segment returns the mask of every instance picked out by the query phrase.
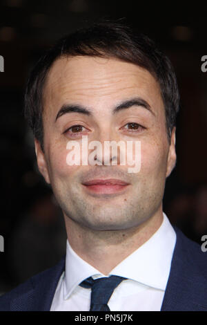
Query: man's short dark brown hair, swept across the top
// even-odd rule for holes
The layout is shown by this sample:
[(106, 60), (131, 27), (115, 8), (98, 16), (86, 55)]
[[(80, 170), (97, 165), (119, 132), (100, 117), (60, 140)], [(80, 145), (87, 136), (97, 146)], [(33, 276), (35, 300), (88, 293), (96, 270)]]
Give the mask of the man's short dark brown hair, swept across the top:
[(34, 66), (25, 95), (25, 116), (43, 149), (43, 89), (55, 60), (62, 56), (114, 57), (149, 71), (159, 82), (168, 141), (179, 111), (179, 91), (172, 64), (146, 35), (113, 21), (92, 24), (60, 39)]

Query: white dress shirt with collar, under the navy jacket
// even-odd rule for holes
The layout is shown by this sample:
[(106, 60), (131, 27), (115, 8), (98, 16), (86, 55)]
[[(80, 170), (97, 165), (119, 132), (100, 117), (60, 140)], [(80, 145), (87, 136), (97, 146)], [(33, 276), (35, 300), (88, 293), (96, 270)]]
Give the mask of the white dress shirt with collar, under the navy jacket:
[[(121, 261), (108, 275), (128, 278), (122, 281), (112, 293), (108, 301), (111, 311), (161, 309), (175, 242), (175, 230), (164, 214), (164, 220), (157, 232)], [(66, 270), (59, 279), (50, 310), (90, 310), (91, 289), (83, 288), (79, 284), (91, 276), (93, 279), (106, 277), (83, 261), (72, 250), (67, 240)]]

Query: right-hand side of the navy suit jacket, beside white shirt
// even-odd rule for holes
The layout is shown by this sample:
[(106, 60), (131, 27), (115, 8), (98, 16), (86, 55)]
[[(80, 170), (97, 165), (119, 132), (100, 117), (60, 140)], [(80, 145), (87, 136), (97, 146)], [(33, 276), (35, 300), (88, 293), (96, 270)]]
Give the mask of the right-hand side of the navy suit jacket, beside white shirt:
[(161, 311), (207, 310), (206, 259), (199, 245), (177, 228), (177, 242)]

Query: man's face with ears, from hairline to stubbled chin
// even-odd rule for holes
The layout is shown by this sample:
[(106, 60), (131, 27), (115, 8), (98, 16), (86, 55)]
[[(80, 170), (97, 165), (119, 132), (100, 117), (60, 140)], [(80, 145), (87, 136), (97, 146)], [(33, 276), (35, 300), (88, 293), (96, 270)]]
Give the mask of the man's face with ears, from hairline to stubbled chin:
[[(142, 104), (126, 104), (137, 98)], [(59, 113), (66, 105), (90, 113)], [(176, 160), (175, 129), (169, 145), (159, 84), (148, 71), (117, 59), (62, 57), (48, 74), (43, 107), (44, 153), (36, 140), (37, 162), (65, 218), (90, 230), (126, 230), (162, 211), (165, 180)], [(130, 174), (119, 163), (69, 166), (68, 141), (76, 140), (81, 149), (82, 136), (88, 143), (140, 141), (140, 171)], [(84, 185), (109, 178), (128, 185)]]

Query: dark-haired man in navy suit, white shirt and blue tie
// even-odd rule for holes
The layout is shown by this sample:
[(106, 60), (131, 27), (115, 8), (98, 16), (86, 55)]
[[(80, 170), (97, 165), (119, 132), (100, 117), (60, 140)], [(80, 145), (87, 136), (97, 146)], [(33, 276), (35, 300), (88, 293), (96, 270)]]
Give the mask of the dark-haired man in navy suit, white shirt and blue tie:
[[(125, 26), (79, 30), (41, 58), (26, 118), (63, 211), (66, 259), (1, 297), (1, 310), (207, 310), (206, 255), (162, 209), (178, 109), (168, 58)], [(124, 147), (103, 152), (107, 141), (137, 145), (139, 168), (123, 163)], [(88, 163), (94, 143), (102, 149)]]

